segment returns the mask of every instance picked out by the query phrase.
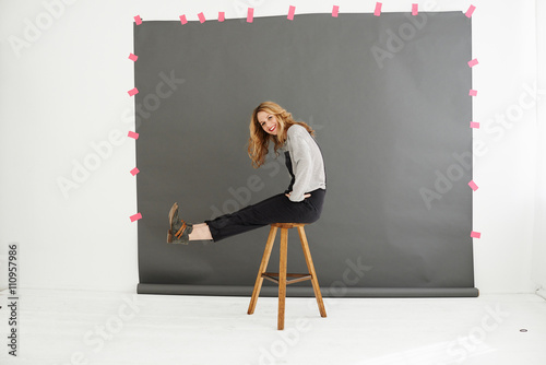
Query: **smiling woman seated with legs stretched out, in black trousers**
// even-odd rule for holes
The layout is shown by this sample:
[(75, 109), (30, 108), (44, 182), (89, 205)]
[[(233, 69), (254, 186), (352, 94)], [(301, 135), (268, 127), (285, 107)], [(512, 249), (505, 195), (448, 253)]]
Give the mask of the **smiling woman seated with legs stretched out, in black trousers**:
[(235, 213), (200, 224), (188, 224), (178, 216), (174, 203), (168, 214), (167, 243), (214, 240), (256, 229), (271, 223), (312, 223), (320, 217), (327, 192), (324, 162), (314, 131), (305, 122), (295, 121), (278, 104), (264, 102), (252, 113), (248, 154), (254, 168), (265, 163), (270, 142), (275, 153), (283, 151), (292, 181), (278, 193)]

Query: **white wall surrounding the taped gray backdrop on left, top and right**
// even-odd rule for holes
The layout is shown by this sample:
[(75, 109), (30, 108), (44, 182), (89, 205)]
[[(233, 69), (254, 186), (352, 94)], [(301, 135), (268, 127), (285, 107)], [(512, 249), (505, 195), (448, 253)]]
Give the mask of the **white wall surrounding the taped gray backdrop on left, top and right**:
[[(115, 138), (132, 128), (127, 91), (133, 87), (128, 56), (134, 15), (177, 20), (185, 13), (198, 20), (202, 11), (212, 20), (225, 11), (228, 19), (246, 17), (246, 8), (253, 7), (260, 17), (286, 14), (292, 4), (297, 21), (298, 13), (330, 13), (334, 3), (341, 13), (375, 9), (369, 0), (64, 1), (0, 3), (1, 270), (8, 243), (19, 243), (25, 287), (134, 291), (139, 281), (138, 223), (129, 221), (136, 212), (135, 181), (129, 174), (135, 165), (134, 142)], [(412, 2), (383, 2), (383, 12), (410, 11)], [(474, 138), (485, 146), (474, 156), (479, 186), (474, 228), (483, 234), (475, 240), (476, 286), (482, 292), (532, 292), (545, 281), (539, 270), (532, 280), (531, 264), (546, 261), (544, 255), (532, 259), (532, 250), (544, 250), (545, 240), (544, 229), (534, 224), (535, 214), (544, 216), (536, 168), (544, 169), (545, 161), (537, 160), (536, 137), (545, 134), (526, 91), (536, 81), (534, 1), (418, 2), (422, 10), (466, 11), (471, 2), (477, 8), (474, 120), (483, 128)], [(33, 33), (28, 24), (43, 30)], [(27, 42), (19, 56), (10, 44), (13, 36)], [(544, 117), (544, 108), (542, 113)], [(500, 123), (497, 116), (507, 114)], [(98, 155), (93, 145), (102, 149), (98, 160), (93, 160)], [(58, 178), (72, 179), (75, 166), (85, 162), (97, 168), (76, 176), (78, 187), (64, 197)], [(4, 271), (0, 278), (5, 286)]]

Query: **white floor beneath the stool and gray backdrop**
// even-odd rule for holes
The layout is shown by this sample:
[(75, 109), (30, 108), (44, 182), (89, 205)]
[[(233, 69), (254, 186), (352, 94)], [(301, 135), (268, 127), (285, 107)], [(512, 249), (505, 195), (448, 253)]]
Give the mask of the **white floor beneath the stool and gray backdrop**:
[[(0, 364), (546, 364), (546, 301), (276, 298), (19, 293), (17, 357), (8, 355), (8, 293), (0, 293)], [(521, 331), (526, 330), (526, 331)]]

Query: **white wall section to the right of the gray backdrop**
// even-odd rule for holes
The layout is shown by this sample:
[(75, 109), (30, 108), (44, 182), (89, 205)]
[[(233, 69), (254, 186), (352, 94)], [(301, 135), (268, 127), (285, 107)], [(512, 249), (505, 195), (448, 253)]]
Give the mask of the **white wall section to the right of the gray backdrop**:
[[(536, 184), (536, 43), (534, 1), (476, 2), (473, 54), (474, 226), (476, 286), (527, 292)], [(484, 151), (478, 152), (478, 151)]]

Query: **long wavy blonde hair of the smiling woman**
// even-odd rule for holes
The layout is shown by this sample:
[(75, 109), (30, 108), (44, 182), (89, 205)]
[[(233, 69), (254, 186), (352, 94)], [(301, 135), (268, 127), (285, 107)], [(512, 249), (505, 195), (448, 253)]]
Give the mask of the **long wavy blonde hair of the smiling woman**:
[[(276, 117), (278, 122), (276, 136), (268, 133), (263, 130), (262, 126), (260, 126), (260, 121), (258, 120), (258, 113), (260, 111), (265, 111)], [(314, 130), (312, 130), (311, 127), (309, 127), (306, 122), (294, 120), (292, 114), (286, 111), (276, 103), (263, 102), (252, 111), (249, 126), (250, 138), (248, 139), (248, 155), (250, 160), (252, 160), (252, 166), (254, 168), (258, 168), (265, 163), (270, 141), (275, 143), (275, 154), (278, 156), (277, 150), (286, 142), (286, 132), (293, 125), (304, 127), (307, 129), (309, 134), (314, 137)]]

